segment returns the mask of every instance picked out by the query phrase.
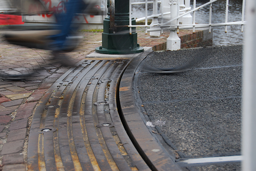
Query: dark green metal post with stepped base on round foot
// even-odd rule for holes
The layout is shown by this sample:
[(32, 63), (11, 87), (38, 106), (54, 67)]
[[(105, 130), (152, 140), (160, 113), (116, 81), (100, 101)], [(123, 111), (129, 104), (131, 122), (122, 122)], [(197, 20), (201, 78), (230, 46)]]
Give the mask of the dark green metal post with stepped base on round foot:
[[(132, 25), (136, 21), (132, 18)], [(103, 21), (102, 46), (95, 49), (102, 54), (135, 54), (144, 49), (137, 44), (136, 28), (130, 34), (129, 0), (108, 0), (108, 17)]]

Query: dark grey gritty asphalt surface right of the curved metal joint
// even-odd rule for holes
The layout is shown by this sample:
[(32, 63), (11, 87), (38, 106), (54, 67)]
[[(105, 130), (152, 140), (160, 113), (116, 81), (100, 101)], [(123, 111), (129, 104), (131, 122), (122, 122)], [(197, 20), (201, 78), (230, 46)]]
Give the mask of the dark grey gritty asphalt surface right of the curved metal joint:
[[(144, 65), (171, 68), (196, 61), (192, 70), (172, 74), (136, 72), (140, 103), (179, 159), (240, 155), (242, 45), (152, 52)], [(138, 105), (140, 106), (140, 105)], [(218, 170), (218, 165), (189, 170)], [(219, 170), (240, 170), (240, 163)]]

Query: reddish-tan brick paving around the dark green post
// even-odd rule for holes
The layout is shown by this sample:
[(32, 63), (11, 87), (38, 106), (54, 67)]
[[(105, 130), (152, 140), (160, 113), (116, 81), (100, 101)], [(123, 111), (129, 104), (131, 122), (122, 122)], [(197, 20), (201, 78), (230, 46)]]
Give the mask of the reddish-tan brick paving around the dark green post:
[[(68, 56), (79, 62), (86, 55), (101, 46), (101, 33), (81, 32), (83, 40)], [(186, 32), (180, 36), (188, 35)], [(144, 31), (138, 32), (141, 46), (163, 50), (166, 46), (166, 32), (161, 38), (149, 38)], [(165, 44), (165, 45), (164, 45)], [(25, 68), (43, 66), (32, 77), (24, 81), (0, 80), (0, 171), (26, 170), (27, 143), (33, 111), (48, 88), (69, 68), (52, 64), (51, 52), (8, 44), (0, 39), (0, 69), (10, 74), (22, 72)]]

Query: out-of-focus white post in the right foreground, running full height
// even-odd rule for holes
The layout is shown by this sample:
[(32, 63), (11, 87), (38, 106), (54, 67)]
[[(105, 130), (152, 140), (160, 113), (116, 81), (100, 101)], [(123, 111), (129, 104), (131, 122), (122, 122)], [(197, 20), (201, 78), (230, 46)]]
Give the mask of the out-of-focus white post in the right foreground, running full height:
[(242, 170), (256, 169), (256, 1), (246, 0), (242, 88)]

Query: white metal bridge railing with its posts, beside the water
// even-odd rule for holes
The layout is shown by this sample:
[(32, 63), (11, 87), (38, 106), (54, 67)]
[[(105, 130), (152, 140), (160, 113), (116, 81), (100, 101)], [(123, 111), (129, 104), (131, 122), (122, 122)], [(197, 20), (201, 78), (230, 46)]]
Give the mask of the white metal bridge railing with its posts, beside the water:
[[(170, 30), (170, 36), (167, 39), (167, 50), (180, 49), (180, 39), (177, 36), (177, 32), (180, 29), (192, 29), (193, 32), (195, 32), (196, 28), (209, 28), (209, 32), (211, 32), (212, 27), (225, 26), (224, 31), (227, 32), (227, 26), (241, 25), (241, 32), (243, 32), (244, 24), (246, 24), (246, 21), (244, 20), (245, 0), (242, 0), (242, 16), (240, 21), (228, 22), (229, 2), (226, 0), (225, 22), (212, 23), (212, 3), (216, 1), (218, 0), (209, 0), (209, 2), (196, 7), (196, 0), (193, 0), (193, 6), (191, 8), (190, 0), (145, 0), (144, 2), (132, 2), (132, 0), (130, 0), (130, 10), (132, 9), (132, 5), (145, 4), (145, 17), (136, 19), (136, 22), (145, 20), (145, 24), (132, 25), (130, 22), (129, 27), (145, 27), (146, 34), (147, 32), (150, 32), (150, 36), (154, 37), (160, 37), (160, 34), (163, 33), (163, 29)], [(149, 3), (153, 3), (153, 14), (150, 16), (147, 15)], [(157, 3), (160, 3), (159, 13)], [(209, 8), (209, 22), (206, 24), (197, 24), (196, 11), (207, 7)], [(148, 25), (149, 18), (152, 18), (152, 23), (150, 25)], [(132, 12), (130, 11), (130, 21), (131, 20)], [(161, 22), (158, 23), (158, 21)]]

